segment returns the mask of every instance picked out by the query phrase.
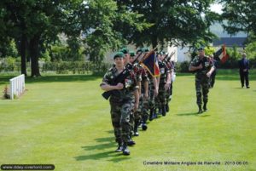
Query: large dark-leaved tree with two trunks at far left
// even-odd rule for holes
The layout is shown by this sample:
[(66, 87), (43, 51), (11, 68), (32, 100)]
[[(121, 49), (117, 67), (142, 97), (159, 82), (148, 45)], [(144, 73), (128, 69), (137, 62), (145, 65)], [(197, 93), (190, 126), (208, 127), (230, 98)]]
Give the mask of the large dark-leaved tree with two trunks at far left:
[(26, 51), (28, 51), (32, 77), (40, 76), (38, 68), (40, 50), (43, 46), (47, 46), (47, 43), (55, 41), (58, 33), (65, 30), (66, 19), (72, 17), (68, 14), (73, 14), (75, 10), (73, 7), (77, 7), (77, 4), (82, 2), (82, 0), (1, 1), (0, 23), (4, 28), (1, 37), (15, 38), (20, 45), (21, 73), (26, 74)]

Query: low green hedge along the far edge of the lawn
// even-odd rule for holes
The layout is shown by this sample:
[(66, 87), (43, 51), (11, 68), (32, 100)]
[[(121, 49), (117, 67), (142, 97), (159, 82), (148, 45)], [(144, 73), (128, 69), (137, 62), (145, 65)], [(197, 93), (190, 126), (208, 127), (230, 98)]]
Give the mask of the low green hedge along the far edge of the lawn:
[[(30, 66), (26, 63), (26, 66)], [(108, 71), (112, 64), (98, 63), (95, 64), (90, 61), (56, 61), (44, 62), (39, 61), (39, 69), (42, 72), (54, 72), (56, 74), (89, 74), (89, 73), (104, 73)], [(236, 69), (238, 68), (238, 60), (228, 60), (224, 64), (218, 62), (218, 68), (221, 69)], [(256, 60), (250, 60), (250, 68), (256, 68)], [(20, 62), (13, 58), (7, 58), (0, 61), (0, 72), (20, 71)], [(29, 68), (28, 70), (29, 71)], [(177, 62), (175, 64), (175, 71), (189, 72), (189, 61)]]

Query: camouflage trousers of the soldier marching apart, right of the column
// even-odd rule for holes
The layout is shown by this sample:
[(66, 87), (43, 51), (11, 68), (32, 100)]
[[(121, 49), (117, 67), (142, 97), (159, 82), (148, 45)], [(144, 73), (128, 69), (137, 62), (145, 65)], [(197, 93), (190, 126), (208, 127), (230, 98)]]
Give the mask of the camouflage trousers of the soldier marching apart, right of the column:
[(195, 78), (195, 91), (196, 91), (196, 104), (202, 105), (202, 99), (204, 104), (208, 102), (209, 93), (209, 81), (208, 77), (202, 77), (201, 79)]

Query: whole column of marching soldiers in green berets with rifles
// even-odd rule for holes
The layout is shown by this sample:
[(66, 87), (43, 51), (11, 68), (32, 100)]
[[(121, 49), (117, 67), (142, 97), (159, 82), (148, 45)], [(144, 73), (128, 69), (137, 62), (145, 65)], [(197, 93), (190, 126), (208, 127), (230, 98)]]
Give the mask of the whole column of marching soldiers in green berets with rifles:
[[(174, 64), (165, 52), (153, 53), (154, 62), (146, 63), (145, 59), (152, 52), (154, 50), (139, 48), (135, 54), (128, 48), (121, 49), (114, 54), (114, 64), (100, 85), (105, 93), (111, 92), (109, 102), (118, 143), (116, 151), (124, 155), (130, 155), (127, 146), (136, 144), (132, 136), (139, 135), (140, 127), (147, 130), (148, 120), (166, 116), (170, 111)], [(125, 76), (124, 79), (117, 79), (120, 75)]]

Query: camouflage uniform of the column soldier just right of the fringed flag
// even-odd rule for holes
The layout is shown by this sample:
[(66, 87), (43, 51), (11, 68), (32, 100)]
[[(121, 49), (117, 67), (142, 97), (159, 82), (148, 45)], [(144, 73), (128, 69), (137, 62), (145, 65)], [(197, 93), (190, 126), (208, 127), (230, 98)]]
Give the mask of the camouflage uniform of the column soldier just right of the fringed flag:
[(162, 61), (159, 61), (160, 67), (160, 83), (159, 83), (159, 94), (156, 97), (156, 106), (159, 108), (160, 113), (166, 115), (166, 76), (170, 73), (170, 70), (167, 68), (166, 64)]

